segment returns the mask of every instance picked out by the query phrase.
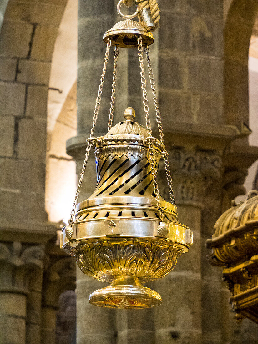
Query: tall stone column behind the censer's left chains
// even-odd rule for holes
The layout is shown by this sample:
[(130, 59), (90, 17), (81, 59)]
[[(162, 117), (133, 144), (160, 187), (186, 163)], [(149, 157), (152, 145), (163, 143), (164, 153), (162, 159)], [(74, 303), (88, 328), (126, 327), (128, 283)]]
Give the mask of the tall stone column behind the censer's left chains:
[[(114, 25), (114, 1), (96, 0), (78, 2), (78, 79), (77, 132), (68, 142), (68, 153), (77, 163), (80, 175), (85, 156), (85, 139), (89, 136), (100, 76), (106, 51), (102, 37)], [(96, 136), (106, 133), (112, 84), (113, 48), (104, 82), (103, 95), (96, 127)], [(126, 69), (126, 68), (125, 68)], [(96, 166), (92, 153), (85, 174), (80, 200), (88, 198), (95, 189)], [(115, 312), (90, 305), (89, 294), (104, 287), (77, 268), (77, 343), (110, 344), (115, 341)]]

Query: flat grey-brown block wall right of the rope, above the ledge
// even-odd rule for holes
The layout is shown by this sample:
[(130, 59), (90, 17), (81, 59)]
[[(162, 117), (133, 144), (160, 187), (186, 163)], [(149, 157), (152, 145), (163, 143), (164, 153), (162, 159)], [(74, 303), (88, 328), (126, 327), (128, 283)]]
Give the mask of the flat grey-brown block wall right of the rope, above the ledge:
[(159, 99), (164, 119), (224, 123), (222, 8), (221, 0), (160, 1)]

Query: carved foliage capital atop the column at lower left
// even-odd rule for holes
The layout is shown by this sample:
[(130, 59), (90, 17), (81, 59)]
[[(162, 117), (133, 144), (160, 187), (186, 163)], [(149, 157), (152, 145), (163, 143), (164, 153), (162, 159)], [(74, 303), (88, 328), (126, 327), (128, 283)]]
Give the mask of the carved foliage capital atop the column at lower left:
[(43, 270), (44, 246), (0, 243), (0, 290), (27, 293), (35, 270)]

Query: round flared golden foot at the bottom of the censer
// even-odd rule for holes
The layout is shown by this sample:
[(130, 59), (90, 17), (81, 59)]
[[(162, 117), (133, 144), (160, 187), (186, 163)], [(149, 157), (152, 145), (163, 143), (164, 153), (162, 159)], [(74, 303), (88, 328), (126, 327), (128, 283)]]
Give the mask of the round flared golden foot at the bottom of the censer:
[(108, 287), (95, 290), (89, 302), (99, 307), (140, 309), (162, 303), (160, 295), (143, 287), (136, 277), (117, 277)]

